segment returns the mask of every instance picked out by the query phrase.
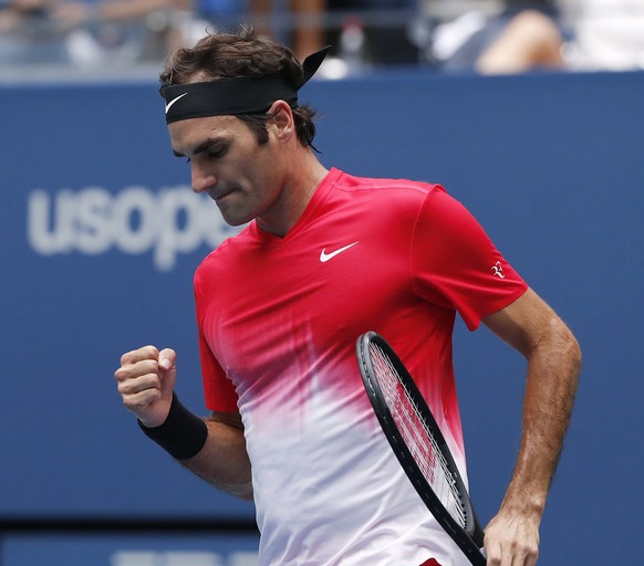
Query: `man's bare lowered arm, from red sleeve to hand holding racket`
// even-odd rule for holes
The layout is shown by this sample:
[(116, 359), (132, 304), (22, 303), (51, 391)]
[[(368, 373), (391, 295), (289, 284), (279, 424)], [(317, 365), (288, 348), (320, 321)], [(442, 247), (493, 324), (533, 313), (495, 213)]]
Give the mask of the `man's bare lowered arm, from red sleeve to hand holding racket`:
[(570, 422), (581, 350), (532, 290), (484, 323), (528, 360), (519, 454), (499, 512), (486, 528), (487, 564), (533, 566), (546, 497)]

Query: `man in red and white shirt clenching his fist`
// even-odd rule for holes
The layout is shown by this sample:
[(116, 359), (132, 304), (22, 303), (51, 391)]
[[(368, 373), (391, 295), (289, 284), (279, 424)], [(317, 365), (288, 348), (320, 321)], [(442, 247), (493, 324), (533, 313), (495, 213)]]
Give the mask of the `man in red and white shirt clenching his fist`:
[(356, 337), (398, 352), (465, 476), (451, 364), (458, 312), (528, 359), (517, 468), (486, 531), (488, 564), (533, 565), (577, 387), (570, 331), (436, 185), (326, 170), (299, 88), (324, 52), (242, 30), (181, 50), (162, 74), (174, 151), (225, 220), (250, 224), (195, 275), (205, 396), (173, 394), (176, 353), (116, 370), (142, 429), (199, 476), (252, 497), (261, 565), (466, 565), (401, 470), (364, 394)]

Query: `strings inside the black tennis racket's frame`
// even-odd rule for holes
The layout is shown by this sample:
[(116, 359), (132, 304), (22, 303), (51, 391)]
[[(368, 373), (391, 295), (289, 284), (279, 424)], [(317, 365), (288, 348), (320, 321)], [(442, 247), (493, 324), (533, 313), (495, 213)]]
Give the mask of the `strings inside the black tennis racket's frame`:
[(465, 509), (456, 480), (449, 471), (447, 461), (432, 430), (422, 417), (409, 391), (399, 379), (398, 371), (389, 357), (374, 344), (370, 345), (370, 350), (375, 377), (412, 457), (445, 509), (465, 527)]

